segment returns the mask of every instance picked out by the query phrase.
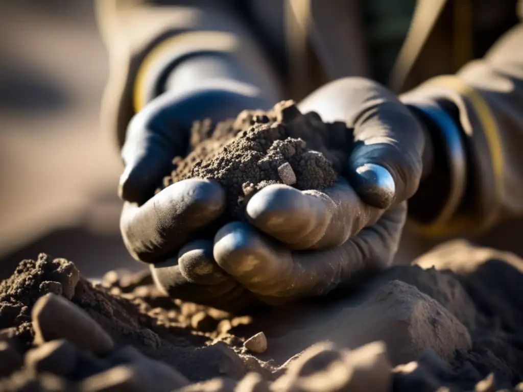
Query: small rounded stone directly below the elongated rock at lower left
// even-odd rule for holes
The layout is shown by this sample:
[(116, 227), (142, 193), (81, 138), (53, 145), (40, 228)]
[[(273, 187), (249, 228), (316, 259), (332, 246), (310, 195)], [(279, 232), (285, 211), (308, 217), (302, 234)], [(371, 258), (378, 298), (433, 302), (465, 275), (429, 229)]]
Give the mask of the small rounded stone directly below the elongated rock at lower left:
[(71, 374), (76, 367), (76, 348), (67, 340), (53, 340), (26, 353), (25, 364), (37, 373), (60, 376)]

